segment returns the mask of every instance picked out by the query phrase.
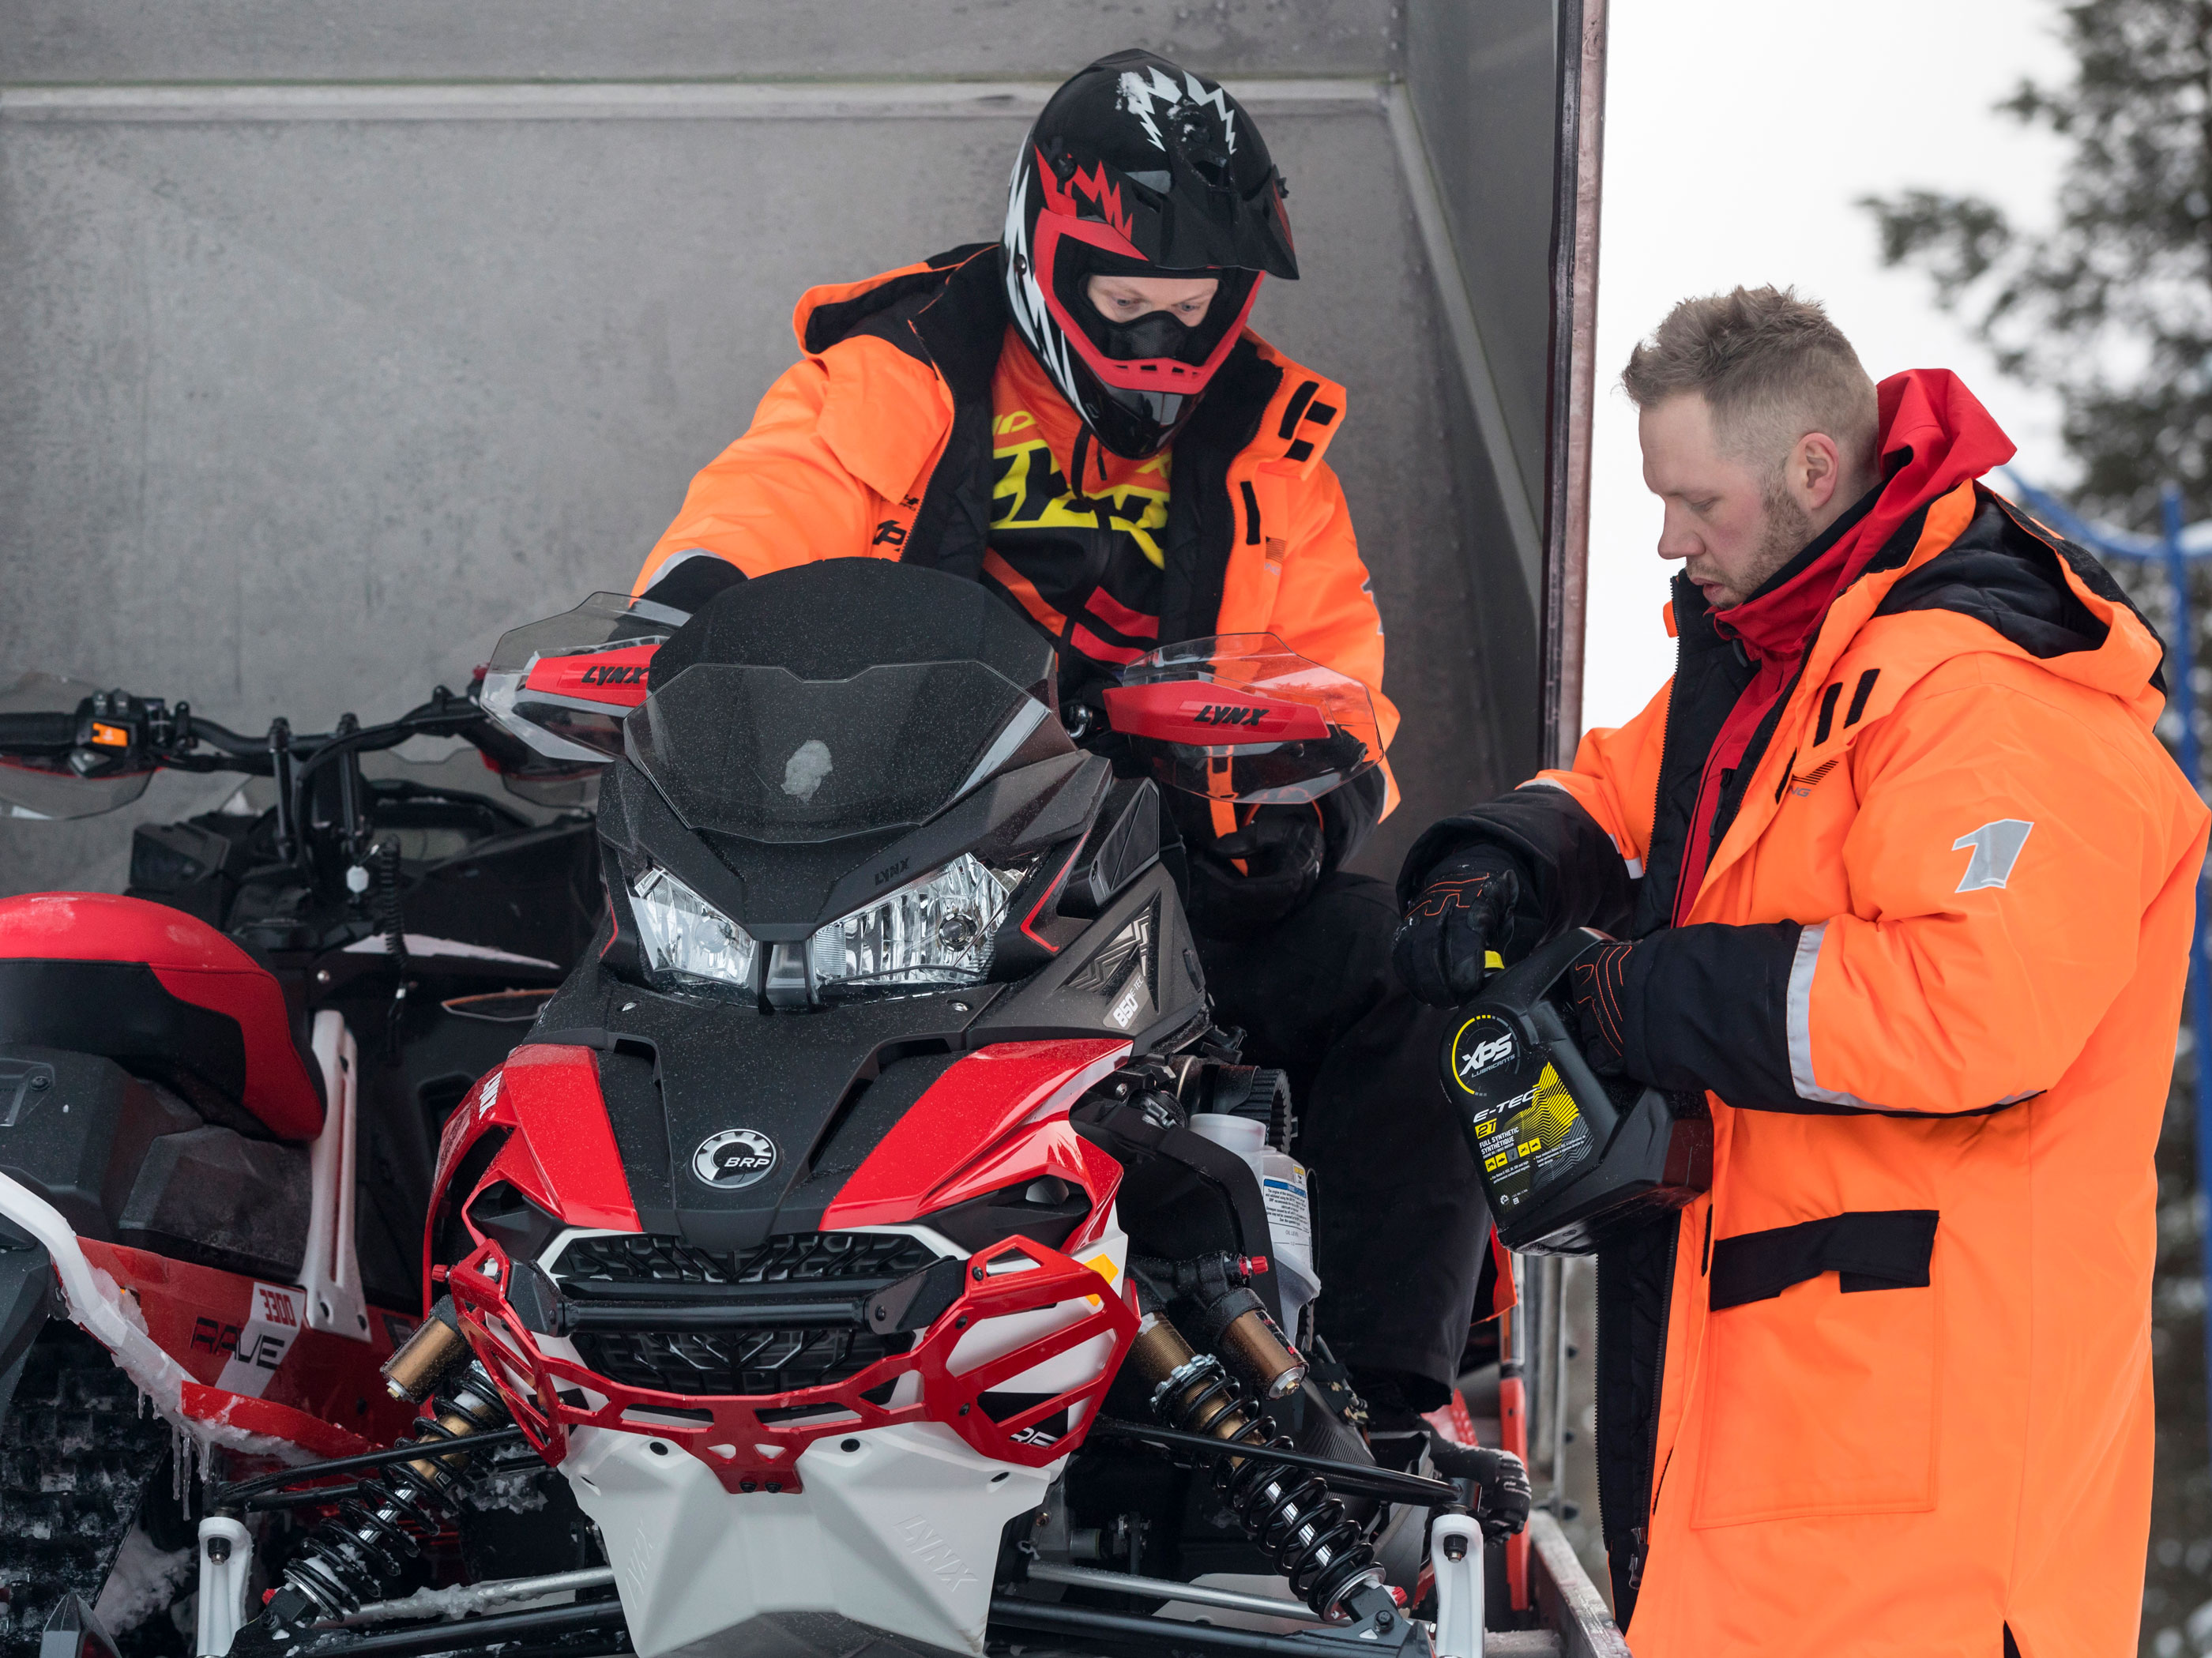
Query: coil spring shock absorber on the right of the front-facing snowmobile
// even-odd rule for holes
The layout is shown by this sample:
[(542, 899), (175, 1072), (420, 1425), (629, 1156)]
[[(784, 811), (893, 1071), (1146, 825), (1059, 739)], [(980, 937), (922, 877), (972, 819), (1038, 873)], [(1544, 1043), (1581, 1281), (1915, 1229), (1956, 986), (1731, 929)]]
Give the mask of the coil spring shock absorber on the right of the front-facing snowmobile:
[(1250, 1448), (1250, 1455), (1223, 1457), (1214, 1481), (1245, 1536), (1316, 1616), (1334, 1618), (1360, 1589), (1383, 1583), (1374, 1550), (1345, 1519), (1327, 1481), (1267, 1457), (1292, 1441), (1270, 1437), (1272, 1424), (1245, 1406), (1243, 1388), (1221, 1360), (1192, 1351), (1168, 1320), (1148, 1313), (1130, 1362), (1152, 1384), (1152, 1415), (1166, 1426)]

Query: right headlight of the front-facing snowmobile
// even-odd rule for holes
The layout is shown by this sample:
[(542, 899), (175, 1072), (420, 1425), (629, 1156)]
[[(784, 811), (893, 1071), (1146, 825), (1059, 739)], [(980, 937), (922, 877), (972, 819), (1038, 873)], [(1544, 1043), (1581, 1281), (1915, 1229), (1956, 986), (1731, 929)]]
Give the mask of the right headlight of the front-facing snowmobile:
[(830, 997), (933, 990), (991, 973), (991, 948), (1031, 864), (993, 869), (973, 853), (856, 909), (807, 940), (814, 984)]

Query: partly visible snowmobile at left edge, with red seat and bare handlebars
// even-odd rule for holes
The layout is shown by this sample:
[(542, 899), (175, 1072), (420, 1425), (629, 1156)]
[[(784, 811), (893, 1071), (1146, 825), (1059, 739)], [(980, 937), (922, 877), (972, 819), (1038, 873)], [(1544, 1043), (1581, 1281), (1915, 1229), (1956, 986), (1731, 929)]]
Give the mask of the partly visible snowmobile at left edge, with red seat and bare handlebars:
[(595, 776), (469, 694), (239, 734), (0, 674), (0, 811), (113, 811), (155, 772), (215, 809), (139, 827), (124, 895), (0, 900), (11, 1656), (55, 1618), (192, 1651), (208, 1479), (407, 1430), (378, 1368), (420, 1322), (438, 1132), (604, 906)]

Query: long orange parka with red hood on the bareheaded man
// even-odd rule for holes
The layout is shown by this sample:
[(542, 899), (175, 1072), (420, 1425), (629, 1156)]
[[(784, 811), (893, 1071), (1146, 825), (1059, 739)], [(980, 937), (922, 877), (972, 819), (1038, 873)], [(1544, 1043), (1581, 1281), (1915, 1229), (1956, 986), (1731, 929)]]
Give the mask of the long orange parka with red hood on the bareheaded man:
[(1489, 842), (1548, 924), (1641, 935), (1630, 1070), (1710, 1090), (1710, 1194), (1599, 1260), (1637, 1658), (2135, 1651), (2152, 1147), (2208, 814), (2112, 579), (1929, 473), (1980, 405), (1900, 376), (1882, 413), (1891, 489), (1922, 493), (1885, 497), (1898, 528), (1732, 774), (1681, 926), (1699, 767), (1747, 679), (1683, 581), (1650, 707), (1409, 862)]

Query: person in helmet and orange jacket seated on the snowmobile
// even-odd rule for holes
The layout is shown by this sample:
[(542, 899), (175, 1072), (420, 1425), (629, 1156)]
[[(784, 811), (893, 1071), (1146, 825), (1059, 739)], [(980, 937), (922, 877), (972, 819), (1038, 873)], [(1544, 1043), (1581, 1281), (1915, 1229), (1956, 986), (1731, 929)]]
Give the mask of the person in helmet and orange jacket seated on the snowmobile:
[[(1148, 650), (1276, 634), (1363, 681), (1387, 743), (1383, 623), (1323, 460), (1343, 387), (1245, 327), (1261, 279), (1298, 274), (1283, 199), (1221, 86), (1144, 51), (1099, 60), (1022, 144), (1000, 243), (801, 298), (803, 358), (692, 480), (635, 590), (695, 608), (821, 557), (929, 564), (1053, 639), (1077, 738)], [(1248, 1061), (1290, 1070), (1329, 1165), (1332, 1335), (1369, 1391), (1429, 1408), (1486, 1216), (1429, 1043), (1398, 1039), (1389, 889), (1340, 873), (1394, 794), (1376, 767), (1318, 807), (1172, 816), (1221, 1019), (1252, 1032)]]

